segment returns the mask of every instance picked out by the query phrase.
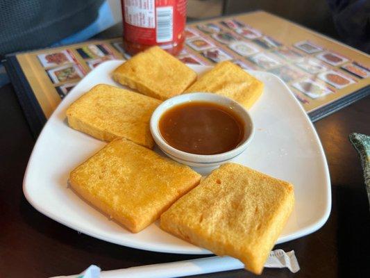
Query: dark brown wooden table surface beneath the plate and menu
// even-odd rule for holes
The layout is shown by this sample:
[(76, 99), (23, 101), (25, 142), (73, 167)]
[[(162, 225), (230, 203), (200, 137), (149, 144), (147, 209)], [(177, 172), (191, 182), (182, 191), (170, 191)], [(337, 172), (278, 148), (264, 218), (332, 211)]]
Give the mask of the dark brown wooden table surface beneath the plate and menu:
[[(106, 243), (37, 212), (22, 193), (22, 179), (35, 140), (11, 84), (0, 88), (0, 97), (1, 278), (72, 275), (91, 264), (114, 270), (201, 257), (146, 252)], [(300, 272), (267, 268), (261, 277), (369, 277), (369, 204), (360, 160), (348, 134), (370, 134), (370, 97), (314, 125), (330, 168), (330, 218), (314, 234), (276, 246), (296, 252)], [(254, 276), (235, 270), (198, 277)]]

